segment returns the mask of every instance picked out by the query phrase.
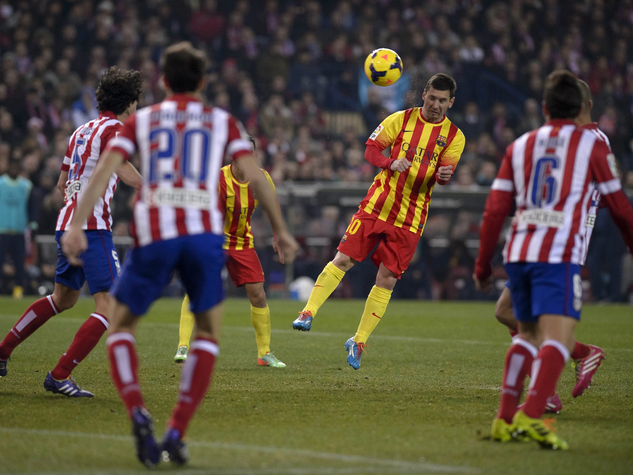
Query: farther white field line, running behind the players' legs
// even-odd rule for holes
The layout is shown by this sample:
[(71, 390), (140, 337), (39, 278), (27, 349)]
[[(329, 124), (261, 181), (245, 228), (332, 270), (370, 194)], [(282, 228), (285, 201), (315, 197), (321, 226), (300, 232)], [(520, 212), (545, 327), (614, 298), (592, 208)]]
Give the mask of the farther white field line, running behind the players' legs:
[[(22, 315), (9, 315), (9, 314), (0, 314), (0, 317), (4, 318), (13, 318), (17, 320)], [(53, 317), (51, 321), (56, 322), (77, 322), (80, 324), (82, 322), (81, 319), (73, 319), (70, 317)], [(177, 323), (168, 323), (168, 322), (141, 322), (141, 325), (158, 325), (158, 326), (168, 326), (177, 328), (179, 324)], [(222, 326), (222, 330), (237, 330), (237, 331), (253, 331), (253, 327), (238, 327), (238, 326)], [(273, 328), (270, 330), (270, 333), (277, 334), (305, 334), (306, 332), (299, 332), (297, 330), (285, 330), (280, 328)], [(332, 333), (332, 332), (324, 332), (324, 331), (310, 331), (307, 333), (308, 335), (313, 336), (329, 336), (335, 338), (349, 338), (349, 333)], [(310, 337), (308, 337), (310, 338)], [(473, 340), (473, 339), (451, 339), (451, 338), (421, 338), (418, 336), (397, 336), (397, 335), (374, 335), (372, 339), (385, 339), (392, 341), (411, 341), (418, 343), (456, 343), (459, 345), (499, 345), (499, 346), (510, 346), (510, 340), (508, 341), (483, 341), (483, 340)], [(603, 350), (607, 350), (610, 352), (633, 352), (633, 348), (603, 348)]]

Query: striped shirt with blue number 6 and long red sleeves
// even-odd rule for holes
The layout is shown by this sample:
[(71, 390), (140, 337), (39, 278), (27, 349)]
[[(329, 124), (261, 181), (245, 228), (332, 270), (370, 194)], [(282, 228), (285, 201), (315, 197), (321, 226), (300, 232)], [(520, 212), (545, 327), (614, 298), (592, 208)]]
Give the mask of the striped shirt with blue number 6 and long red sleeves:
[(571, 120), (550, 120), (519, 137), (506, 150), (486, 201), (477, 277), (490, 275), (513, 197), (517, 212), (506, 236), (504, 262), (582, 265), (591, 236), (587, 228), (594, 225), (598, 204), (596, 190), (633, 252), (633, 208), (622, 191), (615, 157), (599, 133)]

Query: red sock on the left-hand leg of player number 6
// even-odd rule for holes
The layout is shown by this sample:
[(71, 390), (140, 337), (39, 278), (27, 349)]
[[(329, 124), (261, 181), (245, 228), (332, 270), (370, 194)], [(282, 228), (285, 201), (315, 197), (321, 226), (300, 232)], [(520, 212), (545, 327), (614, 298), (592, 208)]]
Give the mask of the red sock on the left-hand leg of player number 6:
[(513, 345), (506, 353), (506, 365), (503, 370), (503, 388), (501, 389), (501, 405), (497, 417), (511, 424), (517, 412), (518, 402), (523, 393), (523, 381), (532, 367), (537, 355), (536, 346), (522, 338), (513, 338)]

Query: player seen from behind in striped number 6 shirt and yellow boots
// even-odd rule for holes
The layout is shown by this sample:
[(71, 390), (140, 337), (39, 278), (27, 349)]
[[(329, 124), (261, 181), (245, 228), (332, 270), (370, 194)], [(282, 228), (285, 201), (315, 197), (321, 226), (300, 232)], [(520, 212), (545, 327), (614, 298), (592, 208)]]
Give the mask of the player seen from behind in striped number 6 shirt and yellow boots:
[[(541, 416), (575, 347), (582, 308), (580, 266), (596, 187), (633, 252), (633, 207), (605, 141), (573, 122), (581, 110), (575, 75), (551, 73), (543, 106), (548, 122), (510, 144), (486, 201), (475, 263), (475, 282), (484, 289), (513, 198), (517, 205), (503, 250), (519, 333), (506, 354), (502, 416), (492, 423), (492, 436), (501, 441), (517, 434), (543, 447), (568, 448)], [(528, 395), (517, 410), (530, 371)]]

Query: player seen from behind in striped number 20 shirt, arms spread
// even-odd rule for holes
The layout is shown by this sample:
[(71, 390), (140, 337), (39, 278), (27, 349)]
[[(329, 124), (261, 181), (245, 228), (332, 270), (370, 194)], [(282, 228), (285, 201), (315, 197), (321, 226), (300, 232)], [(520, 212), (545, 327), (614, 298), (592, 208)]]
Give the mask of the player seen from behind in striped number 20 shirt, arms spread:
[[(210, 384), (219, 353), (224, 238), (218, 179), (225, 155), (251, 182), (285, 259), (291, 261), (298, 249), (285, 228), (275, 192), (256, 165), (242, 125), (226, 111), (203, 104), (204, 53), (182, 42), (168, 47), (161, 63), (167, 98), (125, 121), (97, 163), (61, 239), (66, 257), (77, 263), (87, 246), (81, 223), (108, 186), (113, 170), (138, 151), (142, 185), (132, 222), (136, 246), (128, 251), (121, 276), (111, 289), (115, 303), (106, 343), (111, 376), (132, 421), (137, 456), (149, 467), (159, 462), (161, 454), (177, 464), (189, 458), (182, 439)], [(175, 269), (191, 300), (197, 331), (159, 448), (141, 395), (134, 333), (139, 317), (160, 297)]]

